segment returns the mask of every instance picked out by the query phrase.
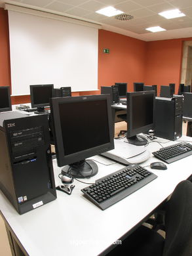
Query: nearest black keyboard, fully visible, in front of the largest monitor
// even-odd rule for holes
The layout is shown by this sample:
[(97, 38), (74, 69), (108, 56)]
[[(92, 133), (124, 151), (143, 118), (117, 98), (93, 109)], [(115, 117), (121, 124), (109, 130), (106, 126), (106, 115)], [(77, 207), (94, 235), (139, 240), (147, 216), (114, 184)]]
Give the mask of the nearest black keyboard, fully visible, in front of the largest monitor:
[(97, 180), (95, 184), (87, 186), (81, 191), (86, 198), (104, 210), (156, 178), (157, 175), (140, 165), (128, 165)]

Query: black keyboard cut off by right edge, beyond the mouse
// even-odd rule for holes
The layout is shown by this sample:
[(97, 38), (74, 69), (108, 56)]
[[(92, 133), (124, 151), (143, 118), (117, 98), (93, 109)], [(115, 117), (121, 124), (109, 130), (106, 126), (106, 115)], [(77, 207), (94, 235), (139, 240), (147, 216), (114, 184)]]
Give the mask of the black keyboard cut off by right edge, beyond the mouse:
[(192, 145), (187, 142), (180, 142), (172, 146), (166, 146), (153, 152), (155, 158), (159, 158), (166, 163), (172, 163), (173, 161), (180, 160), (186, 156), (190, 156), (191, 154)]

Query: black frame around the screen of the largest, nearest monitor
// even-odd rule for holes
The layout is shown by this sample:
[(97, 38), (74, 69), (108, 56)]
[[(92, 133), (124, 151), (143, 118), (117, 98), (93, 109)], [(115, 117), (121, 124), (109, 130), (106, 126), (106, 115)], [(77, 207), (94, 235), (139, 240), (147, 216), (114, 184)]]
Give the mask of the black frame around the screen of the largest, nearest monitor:
[[(100, 146), (96, 146), (93, 148), (89, 148), (86, 150), (82, 150), (81, 152), (75, 152), (73, 154), (65, 155), (63, 140), (62, 140), (62, 129), (60, 123), (60, 112), (59, 112), (59, 104), (67, 103), (67, 102), (78, 102), (82, 100), (106, 100), (107, 102), (107, 116), (108, 116), (108, 127), (109, 127), (109, 142), (106, 144), (102, 144)], [(85, 160), (86, 158), (90, 158), (91, 156), (95, 156), (98, 154), (102, 154), (108, 150), (112, 150), (114, 148), (113, 141), (113, 118), (111, 112), (111, 102), (109, 95), (88, 95), (88, 96), (75, 96), (75, 97), (60, 97), (60, 98), (51, 98), (50, 99), (50, 114), (52, 119), (52, 128), (54, 134), (54, 142), (56, 149), (56, 158), (57, 164), (59, 167), (64, 165), (69, 165), (75, 161)], [(75, 135), (73, 135), (75, 137)]]

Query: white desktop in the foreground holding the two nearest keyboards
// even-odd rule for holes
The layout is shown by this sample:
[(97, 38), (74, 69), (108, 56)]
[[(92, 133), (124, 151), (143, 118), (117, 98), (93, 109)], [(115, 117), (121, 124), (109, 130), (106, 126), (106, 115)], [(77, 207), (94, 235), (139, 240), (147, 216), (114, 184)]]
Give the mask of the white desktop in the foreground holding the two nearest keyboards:
[[(192, 141), (190, 137), (184, 139)], [(176, 142), (163, 145), (168, 146)], [(153, 152), (161, 146), (153, 142), (149, 143), (147, 148)], [(99, 156), (95, 159), (103, 161)], [(108, 160), (105, 161), (109, 163)], [(149, 165), (152, 161), (159, 160), (151, 155), (151, 158), (142, 163), (142, 166)], [(18, 244), (30, 256), (99, 255), (162, 203), (172, 193), (178, 182), (191, 175), (191, 161), (192, 156), (189, 156), (167, 165), (166, 171), (153, 169), (153, 173), (158, 176), (157, 179), (105, 211), (83, 196), (81, 188), (86, 184), (75, 181), (71, 196), (58, 191), (56, 200), (24, 215), (19, 215), (1, 192), (1, 215)], [(83, 181), (92, 182), (123, 167), (117, 163), (108, 166), (97, 164), (98, 175)], [(147, 167), (147, 169), (150, 168)], [(58, 178), (60, 170), (61, 168), (57, 167), (54, 160), (56, 185), (61, 184)]]

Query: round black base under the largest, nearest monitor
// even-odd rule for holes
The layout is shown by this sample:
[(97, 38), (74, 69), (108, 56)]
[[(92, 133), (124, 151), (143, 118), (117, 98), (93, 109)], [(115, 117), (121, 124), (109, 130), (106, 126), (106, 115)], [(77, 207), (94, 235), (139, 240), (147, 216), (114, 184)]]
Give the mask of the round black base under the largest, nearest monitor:
[(62, 173), (70, 173), (74, 178), (86, 179), (98, 173), (98, 165), (92, 160), (81, 160), (64, 166)]

